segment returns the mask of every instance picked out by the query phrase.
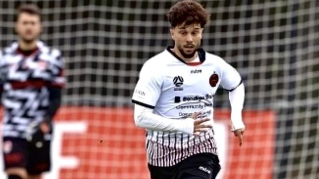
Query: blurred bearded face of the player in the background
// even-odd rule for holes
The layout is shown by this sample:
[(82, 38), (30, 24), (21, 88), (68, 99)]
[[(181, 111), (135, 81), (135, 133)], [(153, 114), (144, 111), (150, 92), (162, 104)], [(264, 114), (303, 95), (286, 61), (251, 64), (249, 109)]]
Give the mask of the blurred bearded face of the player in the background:
[(40, 17), (34, 14), (21, 13), (16, 22), (16, 32), (21, 40), (31, 43), (39, 37), (42, 31)]

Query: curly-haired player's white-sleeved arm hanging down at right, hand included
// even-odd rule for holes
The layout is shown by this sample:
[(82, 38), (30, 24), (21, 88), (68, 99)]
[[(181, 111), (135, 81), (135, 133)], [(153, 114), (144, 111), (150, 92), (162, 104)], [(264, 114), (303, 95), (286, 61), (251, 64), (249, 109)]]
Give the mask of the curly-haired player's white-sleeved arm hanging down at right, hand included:
[(229, 91), (229, 101), (231, 105), (231, 126), (232, 132), (239, 139), (239, 146), (243, 141), (245, 125), (242, 121), (241, 111), (244, 103), (245, 90), (238, 71), (227, 63), (224, 63), (221, 75), (221, 85)]

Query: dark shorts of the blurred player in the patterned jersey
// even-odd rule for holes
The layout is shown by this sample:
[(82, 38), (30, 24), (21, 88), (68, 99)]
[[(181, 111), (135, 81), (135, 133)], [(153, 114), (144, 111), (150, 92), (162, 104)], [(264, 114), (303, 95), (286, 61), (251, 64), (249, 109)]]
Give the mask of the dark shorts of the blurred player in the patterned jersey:
[(21, 167), (30, 175), (38, 175), (50, 170), (51, 141), (28, 142), (26, 139), (3, 138), (4, 169)]

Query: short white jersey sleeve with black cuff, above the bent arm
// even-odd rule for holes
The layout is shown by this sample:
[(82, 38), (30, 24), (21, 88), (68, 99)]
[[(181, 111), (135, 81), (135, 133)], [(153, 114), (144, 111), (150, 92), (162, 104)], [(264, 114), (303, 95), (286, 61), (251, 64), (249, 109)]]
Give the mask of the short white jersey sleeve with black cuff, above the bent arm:
[(162, 77), (149, 62), (146, 62), (140, 73), (133, 91), (132, 102), (154, 109), (160, 97)]

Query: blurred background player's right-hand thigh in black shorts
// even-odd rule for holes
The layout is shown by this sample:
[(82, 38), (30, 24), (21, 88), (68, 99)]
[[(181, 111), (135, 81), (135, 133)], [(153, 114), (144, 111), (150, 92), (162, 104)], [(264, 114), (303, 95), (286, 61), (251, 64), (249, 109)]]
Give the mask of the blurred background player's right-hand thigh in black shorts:
[[(27, 173), (32, 177), (37, 177), (51, 168), (50, 158), (51, 141), (29, 142)], [(35, 178), (36, 179), (36, 178)]]

